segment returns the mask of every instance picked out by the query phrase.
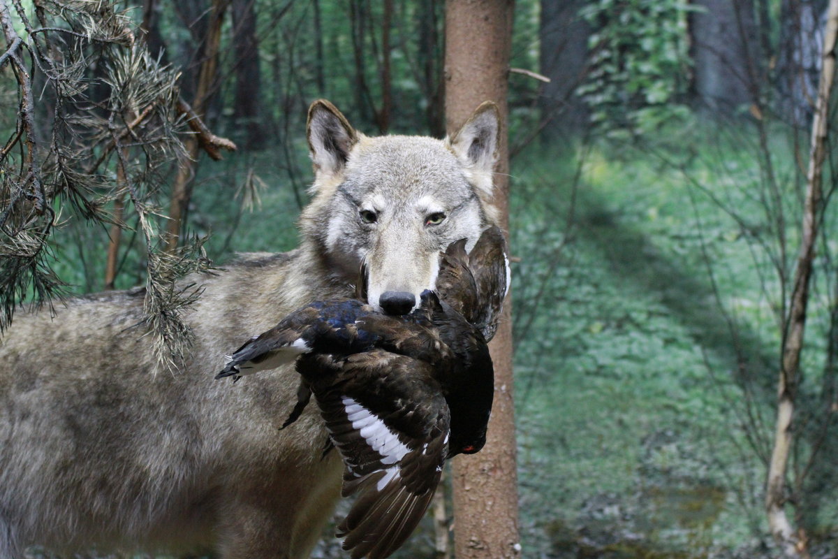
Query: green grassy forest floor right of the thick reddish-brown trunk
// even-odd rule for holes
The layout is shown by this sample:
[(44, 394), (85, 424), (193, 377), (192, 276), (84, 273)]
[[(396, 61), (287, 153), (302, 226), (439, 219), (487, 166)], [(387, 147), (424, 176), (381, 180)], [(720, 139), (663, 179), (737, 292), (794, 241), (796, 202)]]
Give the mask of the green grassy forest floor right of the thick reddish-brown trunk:
[[(772, 242), (758, 165), (747, 146), (708, 140), (682, 137), (677, 153), (535, 148), (513, 164), (525, 556), (730, 555), (768, 539), (763, 464), (741, 423), (744, 387), (767, 448), (779, 282), (755, 241)], [(784, 188), (792, 258), (799, 205)], [(828, 314), (818, 297), (815, 377)], [(835, 489), (816, 500), (834, 503)], [(835, 531), (833, 511), (810, 520)]]

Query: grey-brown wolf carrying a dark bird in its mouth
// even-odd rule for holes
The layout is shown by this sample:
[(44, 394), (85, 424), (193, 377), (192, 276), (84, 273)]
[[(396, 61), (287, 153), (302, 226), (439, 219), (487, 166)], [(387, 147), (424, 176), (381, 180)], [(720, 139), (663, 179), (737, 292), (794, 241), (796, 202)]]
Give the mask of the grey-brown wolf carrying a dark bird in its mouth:
[(213, 376), (294, 308), (351, 295), (361, 260), (370, 303), (432, 286), (438, 252), (494, 222), (498, 126), (484, 104), (444, 141), (370, 138), (316, 101), (301, 246), (198, 278), (196, 341), (178, 373), (150, 372), (142, 292), (77, 298), (54, 319), (18, 313), (0, 346), (0, 559), (33, 544), (308, 556), (339, 498), (322, 421), (309, 406), (279, 430), (296, 401), (290, 368), (235, 385)]

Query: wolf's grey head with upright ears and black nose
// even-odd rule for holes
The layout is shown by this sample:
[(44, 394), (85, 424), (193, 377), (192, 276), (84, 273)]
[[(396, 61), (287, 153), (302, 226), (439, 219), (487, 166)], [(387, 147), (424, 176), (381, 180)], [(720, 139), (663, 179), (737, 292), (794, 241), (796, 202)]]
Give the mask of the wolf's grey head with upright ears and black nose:
[(361, 263), (371, 305), (409, 313), (433, 289), (439, 253), (495, 224), (499, 113), (484, 103), (452, 137), (366, 137), (328, 101), (308, 111), (314, 198), (303, 235), (351, 282)]

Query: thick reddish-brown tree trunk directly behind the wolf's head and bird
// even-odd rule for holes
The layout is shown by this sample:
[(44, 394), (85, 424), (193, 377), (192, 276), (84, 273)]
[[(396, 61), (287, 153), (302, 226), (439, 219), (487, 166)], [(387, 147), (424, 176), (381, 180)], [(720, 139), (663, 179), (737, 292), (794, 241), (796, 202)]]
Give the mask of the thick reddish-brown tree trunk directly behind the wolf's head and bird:
[[(503, 125), (495, 168), (495, 201), (509, 227), (507, 77), (514, 2), (448, 0), (445, 10), (446, 127), (456, 131), (482, 101), (498, 104)], [(454, 555), (457, 559), (520, 557), (512, 400), (510, 300), (489, 349), (494, 406), (485, 448), (453, 460)]]

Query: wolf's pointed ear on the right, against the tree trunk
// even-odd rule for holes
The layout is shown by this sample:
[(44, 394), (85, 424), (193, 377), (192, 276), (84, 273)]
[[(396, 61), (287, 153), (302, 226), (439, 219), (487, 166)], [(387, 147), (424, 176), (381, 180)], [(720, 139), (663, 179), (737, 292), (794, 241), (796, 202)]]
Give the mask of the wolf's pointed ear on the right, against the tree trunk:
[(498, 159), (499, 131), (498, 106), (492, 101), (484, 101), (447, 143), (463, 163), (473, 170), (491, 174)]

